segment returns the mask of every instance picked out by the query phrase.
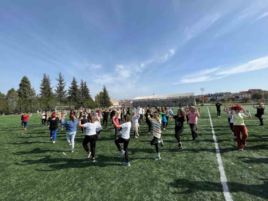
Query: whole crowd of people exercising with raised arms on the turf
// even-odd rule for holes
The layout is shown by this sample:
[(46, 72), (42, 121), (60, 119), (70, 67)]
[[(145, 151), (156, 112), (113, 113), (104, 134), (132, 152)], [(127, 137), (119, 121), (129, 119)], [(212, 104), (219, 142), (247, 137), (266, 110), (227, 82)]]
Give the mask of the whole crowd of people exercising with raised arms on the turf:
[[(221, 117), (221, 103), (216, 103), (217, 116)], [(260, 103), (257, 109), (257, 114), (255, 116), (260, 120), (260, 126), (263, 126), (264, 106), (263, 103)], [(168, 127), (169, 120), (175, 121), (174, 127), (174, 137), (178, 142), (178, 150), (182, 150), (182, 142), (180, 140), (180, 135), (183, 133), (185, 124), (187, 123), (191, 130), (192, 141), (195, 141), (198, 138), (197, 135), (197, 120), (200, 117), (201, 110), (200, 107), (197, 110), (197, 107), (186, 105), (184, 108), (179, 106), (177, 108), (177, 115), (174, 115), (174, 108), (172, 107), (159, 107), (156, 106), (154, 109), (150, 106), (145, 107), (124, 107), (124, 108), (95, 108), (91, 110), (88, 108), (79, 108), (78, 110), (63, 110), (58, 113), (50, 111), (41, 111), (40, 115), (42, 116), (42, 125), (45, 127), (46, 123), (50, 130), (50, 140), (52, 143), (56, 142), (56, 135), (58, 130), (58, 125), (60, 125), (61, 130), (63, 127), (66, 127), (66, 140), (68, 146), (71, 147), (70, 152), (74, 152), (74, 138), (77, 133), (77, 125), (81, 128), (81, 133), (85, 131), (85, 137), (82, 142), (82, 146), (85, 149), (87, 158), (90, 162), (95, 162), (95, 153), (96, 153), (96, 141), (99, 138), (100, 132), (102, 131), (102, 125), (107, 129), (108, 118), (110, 115), (111, 125), (115, 131), (115, 144), (119, 150), (119, 156), (125, 155), (125, 162), (122, 163), (125, 166), (130, 166), (129, 156), (128, 156), (128, 144), (130, 142), (130, 132), (131, 132), (131, 121), (130, 121), (130, 110), (132, 111), (132, 130), (133, 138), (138, 138), (140, 125), (144, 121), (148, 126), (147, 133), (152, 135), (153, 139), (150, 142), (150, 145), (155, 146), (156, 157), (154, 160), (161, 159), (158, 144), (161, 147), (164, 146), (164, 142), (161, 138), (162, 130), (166, 130)], [(245, 110), (241, 105), (230, 105), (224, 107), (224, 112), (228, 114), (228, 122), (232, 134), (235, 136), (235, 141), (237, 141), (237, 146), (240, 151), (243, 151), (243, 146), (246, 145), (246, 138), (248, 136), (247, 127), (244, 124), (244, 118), (252, 119), (250, 111)], [(244, 114), (247, 113), (247, 116)], [(66, 119), (66, 115), (69, 114), (69, 119)], [(50, 117), (51, 115), (51, 117)], [(21, 113), (21, 126), (24, 127), (24, 130), (27, 130), (28, 118), (32, 116), (27, 115), (27, 113)], [(101, 121), (102, 120), (102, 124)], [(152, 133), (151, 133), (152, 130)], [(121, 133), (121, 137), (118, 136), (118, 133)], [(242, 133), (242, 137), (241, 137)], [(71, 140), (70, 140), (71, 138)], [(120, 144), (123, 143), (123, 149)], [(90, 149), (88, 147), (90, 144)], [(91, 159), (90, 159), (91, 157)]]

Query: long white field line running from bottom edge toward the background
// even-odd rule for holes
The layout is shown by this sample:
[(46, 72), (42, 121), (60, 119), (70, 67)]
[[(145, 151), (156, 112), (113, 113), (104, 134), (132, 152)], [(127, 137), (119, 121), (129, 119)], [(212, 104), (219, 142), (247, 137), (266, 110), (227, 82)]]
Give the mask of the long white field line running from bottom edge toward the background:
[(222, 164), (222, 157), (221, 157), (221, 154), (220, 154), (220, 151), (219, 151), (219, 146), (218, 146), (218, 142), (217, 142), (216, 135), (215, 135), (215, 132), (214, 132), (213, 124), (212, 124), (212, 121), (211, 121), (211, 116), (210, 116), (210, 113), (209, 113), (209, 109), (208, 109), (208, 116), (209, 116), (209, 119), (210, 119), (211, 131), (212, 131), (212, 134), (213, 134), (213, 140), (214, 140), (215, 149), (216, 149), (216, 156), (217, 156), (217, 161), (218, 161), (218, 164), (219, 164), (218, 168), (219, 168), (219, 172), (220, 172), (220, 175), (221, 175), (223, 195), (224, 195), (224, 198), (225, 198), (226, 201), (233, 201), (232, 195), (230, 194), (230, 191), (229, 191), (229, 188), (228, 188), (227, 177), (225, 175), (224, 167), (223, 167), (223, 164)]

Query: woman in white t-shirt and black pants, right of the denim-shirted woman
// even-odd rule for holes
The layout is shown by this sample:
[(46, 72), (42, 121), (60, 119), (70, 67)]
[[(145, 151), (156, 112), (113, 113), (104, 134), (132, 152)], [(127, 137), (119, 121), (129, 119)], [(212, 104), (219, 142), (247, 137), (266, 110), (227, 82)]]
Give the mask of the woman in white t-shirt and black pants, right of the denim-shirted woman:
[[(80, 128), (84, 127), (87, 128), (85, 138), (82, 142), (82, 145), (85, 149), (85, 151), (88, 154), (88, 158), (91, 155), (90, 162), (95, 162), (95, 150), (96, 150), (96, 128), (98, 124), (100, 123), (99, 116), (96, 115), (97, 121), (95, 121), (95, 118), (92, 114), (88, 114), (88, 123), (81, 124), (81, 120), (83, 118), (79, 119), (78, 126)], [(90, 143), (90, 151), (88, 149), (88, 143)]]

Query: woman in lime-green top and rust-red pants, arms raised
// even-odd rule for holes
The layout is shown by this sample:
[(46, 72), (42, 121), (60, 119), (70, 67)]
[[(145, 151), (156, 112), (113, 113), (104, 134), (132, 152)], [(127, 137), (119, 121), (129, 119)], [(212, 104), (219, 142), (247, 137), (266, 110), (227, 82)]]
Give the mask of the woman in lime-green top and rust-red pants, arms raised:
[[(230, 119), (233, 119), (233, 131), (236, 134), (239, 151), (243, 151), (243, 146), (247, 146), (247, 127), (244, 124), (244, 117), (251, 119), (249, 110), (246, 110), (248, 116), (244, 115), (243, 113), (239, 113), (241, 110), (243, 110), (243, 108), (240, 105), (235, 105), (230, 115)], [(242, 138), (240, 132), (242, 133)]]

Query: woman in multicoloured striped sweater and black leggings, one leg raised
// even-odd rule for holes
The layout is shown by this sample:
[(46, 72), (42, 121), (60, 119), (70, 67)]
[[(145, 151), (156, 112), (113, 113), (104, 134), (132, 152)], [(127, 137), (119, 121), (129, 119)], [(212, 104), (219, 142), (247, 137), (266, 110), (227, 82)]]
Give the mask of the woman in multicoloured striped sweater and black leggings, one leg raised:
[[(153, 121), (150, 117), (150, 114), (147, 113), (148, 115), (148, 119), (149, 121)], [(155, 160), (159, 160), (161, 159), (160, 157), (160, 153), (159, 153), (159, 149), (158, 149), (158, 144), (160, 143), (161, 144), (161, 147), (164, 146), (164, 143), (163, 143), (163, 140), (159, 140), (159, 138), (161, 137), (161, 119), (160, 119), (160, 115), (157, 111), (154, 112), (154, 118), (155, 118), (155, 121), (154, 121), (154, 127), (153, 127), (153, 136), (154, 138), (152, 139), (151, 141), (151, 145), (155, 145), (155, 149), (156, 149), (156, 153), (157, 153), (157, 156), (156, 158), (154, 158)]]

